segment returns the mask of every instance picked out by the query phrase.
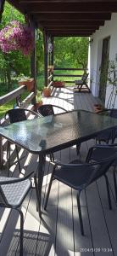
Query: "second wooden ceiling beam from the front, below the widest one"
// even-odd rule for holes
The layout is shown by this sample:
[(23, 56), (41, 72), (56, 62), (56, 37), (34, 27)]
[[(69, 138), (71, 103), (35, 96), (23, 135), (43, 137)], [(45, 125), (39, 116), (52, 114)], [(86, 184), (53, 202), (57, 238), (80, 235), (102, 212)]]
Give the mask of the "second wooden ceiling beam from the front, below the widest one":
[(36, 14), (35, 18), (39, 20), (110, 20), (111, 14)]

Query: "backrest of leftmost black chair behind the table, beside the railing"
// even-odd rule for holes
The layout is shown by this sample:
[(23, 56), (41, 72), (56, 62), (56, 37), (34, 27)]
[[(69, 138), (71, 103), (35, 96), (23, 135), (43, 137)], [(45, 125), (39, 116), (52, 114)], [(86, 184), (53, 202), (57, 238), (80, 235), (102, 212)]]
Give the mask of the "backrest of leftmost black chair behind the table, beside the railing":
[(34, 111), (32, 111), (30, 109), (14, 108), (14, 109), (9, 109), (5, 113), (5, 119), (7, 120), (7, 116), (8, 116), (10, 124), (17, 123), (20, 121), (25, 121), (27, 119), (26, 113), (25, 113), (26, 111), (30, 112), (32, 114), (35, 114), (36, 116), (39, 116), (38, 113), (35, 113)]

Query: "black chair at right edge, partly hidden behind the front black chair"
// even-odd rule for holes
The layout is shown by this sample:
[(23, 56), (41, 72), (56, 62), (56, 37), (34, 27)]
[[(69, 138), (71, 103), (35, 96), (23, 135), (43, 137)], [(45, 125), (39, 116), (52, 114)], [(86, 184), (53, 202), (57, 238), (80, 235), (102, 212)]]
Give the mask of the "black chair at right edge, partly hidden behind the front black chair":
[[(99, 145), (96, 144), (92, 148), (89, 149), (88, 154), (86, 156), (86, 162), (98, 161), (103, 158), (109, 158), (110, 154), (117, 153), (117, 143), (109, 144), (109, 145)], [(117, 166), (117, 158), (112, 163), (113, 166), (113, 179), (114, 179), (114, 191), (115, 198), (117, 201), (117, 181), (116, 181), (116, 166)]]

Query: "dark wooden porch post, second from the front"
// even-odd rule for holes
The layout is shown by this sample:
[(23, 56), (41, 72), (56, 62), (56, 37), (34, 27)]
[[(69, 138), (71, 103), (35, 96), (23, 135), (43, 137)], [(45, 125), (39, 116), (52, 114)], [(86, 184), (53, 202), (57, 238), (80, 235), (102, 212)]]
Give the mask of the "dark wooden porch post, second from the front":
[(44, 38), (44, 74), (45, 74), (45, 86), (47, 86), (47, 33), (43, 32)]

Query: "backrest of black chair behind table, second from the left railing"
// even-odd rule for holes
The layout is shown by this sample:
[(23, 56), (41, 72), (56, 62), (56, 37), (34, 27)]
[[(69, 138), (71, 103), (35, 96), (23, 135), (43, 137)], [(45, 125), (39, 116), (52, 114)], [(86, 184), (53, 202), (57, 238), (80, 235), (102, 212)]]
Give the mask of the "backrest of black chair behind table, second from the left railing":
[(66, 112), (66, 110), (64, 108), (58, 107), (56, 105), (45, 104), (45, 105), (42, 105), (39, 108), (37, 108), (37, 113), (41, 114), (42, 116), (55, 114), (53, 108), (58, 108), (58, 109), (63, 110), (64, 112)]

